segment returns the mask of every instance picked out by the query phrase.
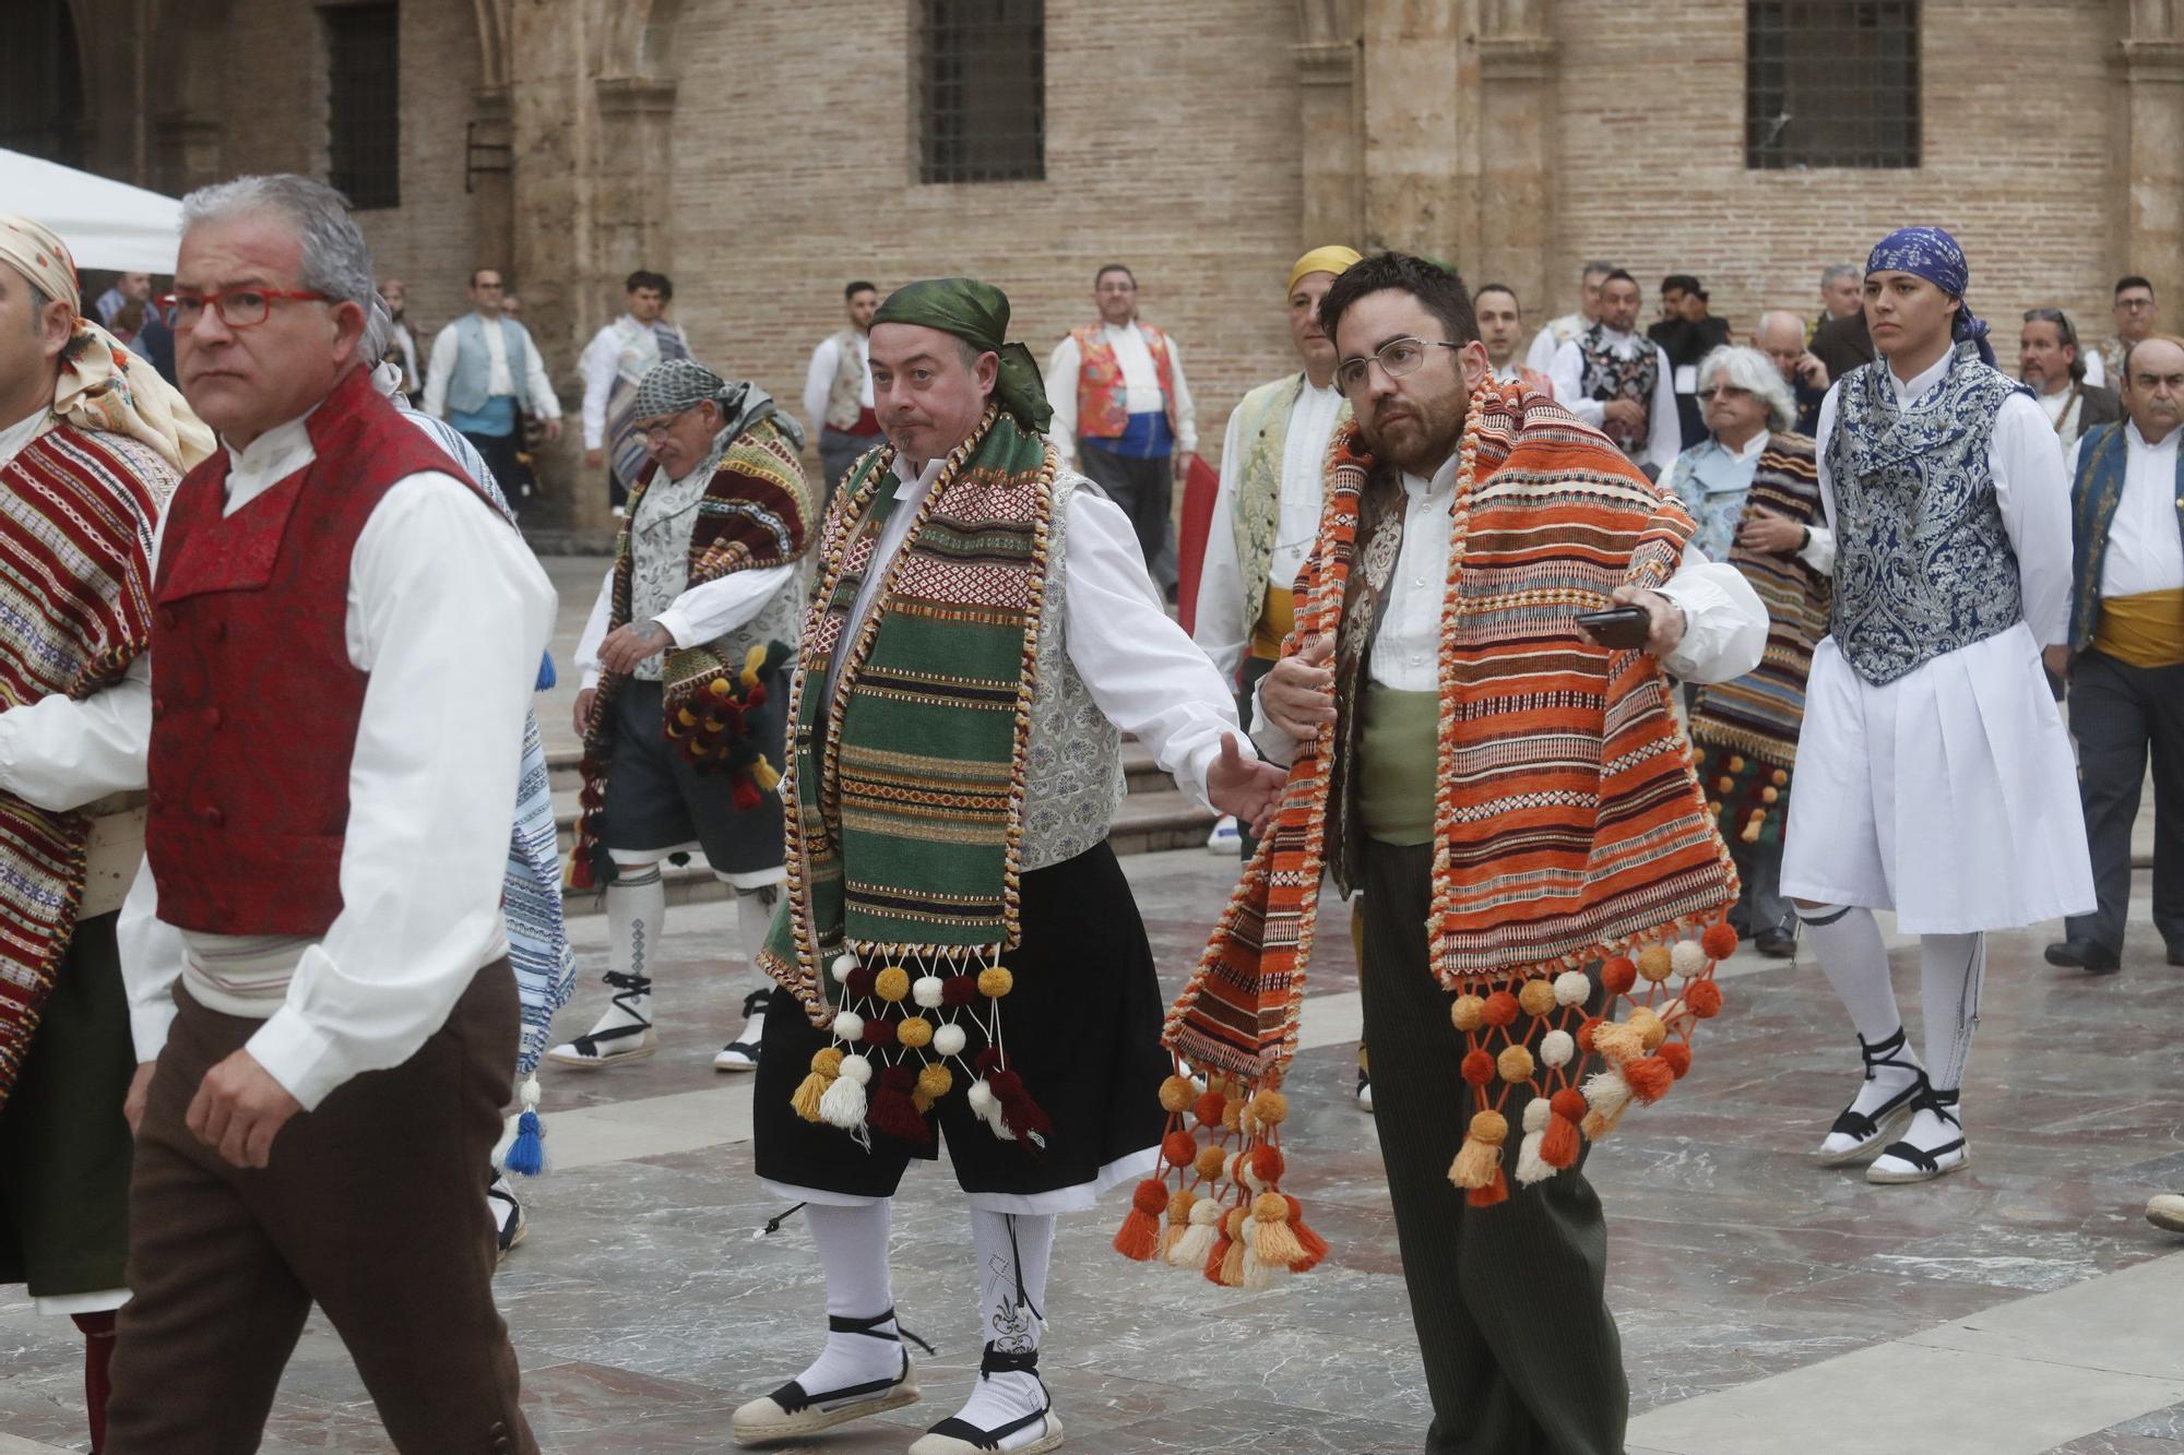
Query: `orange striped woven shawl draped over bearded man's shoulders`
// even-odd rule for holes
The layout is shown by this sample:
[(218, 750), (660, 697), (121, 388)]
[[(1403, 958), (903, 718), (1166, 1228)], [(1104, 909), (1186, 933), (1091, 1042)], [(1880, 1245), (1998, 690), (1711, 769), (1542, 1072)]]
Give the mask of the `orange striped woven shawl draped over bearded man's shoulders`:
[[(1697, 928), (1736, 902), (1730, 863), (1669, 712), (1660, 664), (1572, 616), (1660, 585), (1697, 529), (1599, 430), (1522, 385), (1472, 395), (1441, 607), (1431, 950), (1450, 990), (1583, 966)], [(1358, 500), (1354, 426), (1328, 450), (1295, 651), (1343, 631)], [(1343, 710), (1354, 710), (1343, 703)], [(1201, 1068), (1280, 1073), (1297, 1044), (1341, 723), (1306, 743), (1166, 1044)]]

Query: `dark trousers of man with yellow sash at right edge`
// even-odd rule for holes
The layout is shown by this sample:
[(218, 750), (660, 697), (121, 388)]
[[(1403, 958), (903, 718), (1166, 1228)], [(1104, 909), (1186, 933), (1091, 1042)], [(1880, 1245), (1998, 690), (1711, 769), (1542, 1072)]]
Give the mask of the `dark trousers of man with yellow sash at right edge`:
[(2153, 928), (2184, 946), (2184, 666), (2132, 666), (2103, 651), (2070, 662), (2077, 795), (2099, 907), (2064, 933), (2123, 950), (2132, 904), (2132, 826), (2153, 752)]

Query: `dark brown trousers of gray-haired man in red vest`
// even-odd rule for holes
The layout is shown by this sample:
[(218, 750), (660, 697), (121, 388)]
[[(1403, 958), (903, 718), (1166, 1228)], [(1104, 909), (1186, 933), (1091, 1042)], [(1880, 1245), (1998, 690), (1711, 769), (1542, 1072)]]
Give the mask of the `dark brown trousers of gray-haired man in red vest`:
[(515, 977), (478, 970), (417, 1055), (339, 1086), (229, 1167), (183, 1125), (258, 1020), (188, 992), (159, 1053), (129, 1197), (107, 1455), (247, 1455), (317, 1302), (404, 1455), (535, 1455), (494, 1309), (485, 1173), (515, 1066)]

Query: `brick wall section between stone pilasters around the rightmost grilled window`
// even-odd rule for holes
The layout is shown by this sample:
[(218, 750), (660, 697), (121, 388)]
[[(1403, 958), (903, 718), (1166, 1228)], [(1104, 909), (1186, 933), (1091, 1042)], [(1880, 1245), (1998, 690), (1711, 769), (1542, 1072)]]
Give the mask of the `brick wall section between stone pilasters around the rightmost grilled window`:
[[(1734, 0), (1562, 0), (1557, 242), (1548, 275), (1577, 304), (1586, 258), (1647, 291), (1706, 280), (1743, 334), (1765, 308), (1819, 306), (1819, 269), (1863, 262), (1889, 229), (1937, 223), (1972, 264), (1968, 299), (2016, 365), (2018, 319), (2062, 306), (2112, 332), (2108, 249), (2114, 31), (2105, 0), (1922, 7), (1924, 166), (1754, 173), (1743, 166), (1745, 26)], [(1540, 312), (1546, 317), (1546, 310)]]

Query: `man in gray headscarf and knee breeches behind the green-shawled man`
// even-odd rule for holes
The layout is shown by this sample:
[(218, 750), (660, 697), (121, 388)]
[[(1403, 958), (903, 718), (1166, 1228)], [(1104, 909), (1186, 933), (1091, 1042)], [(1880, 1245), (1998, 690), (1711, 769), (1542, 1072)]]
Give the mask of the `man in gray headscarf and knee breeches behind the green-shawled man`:
[(712, 1064), (751, 1070), (771, 992), (756, 961), (786, 876), (773, 786), (810, 542), (804, 430), (758, 385), (692, 358), (653, 365), (631, 419), (651, 461), (577, 647), (583, 821), (570, 887), (607, 887), (614, 998), (548, 1060), (596, 1068), (657, 1049), (660, 863), (699, 850), (736, 891), (753, 977), (743, 1036)]

